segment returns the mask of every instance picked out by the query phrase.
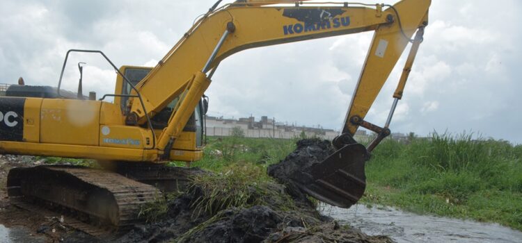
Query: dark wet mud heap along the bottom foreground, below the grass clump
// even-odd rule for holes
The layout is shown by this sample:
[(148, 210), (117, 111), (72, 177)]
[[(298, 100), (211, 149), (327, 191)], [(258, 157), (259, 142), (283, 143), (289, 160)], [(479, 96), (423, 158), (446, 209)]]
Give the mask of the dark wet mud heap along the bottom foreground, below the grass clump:
[(339, 226), (312, 207), (286, 211), (274, 209), (277, 206), (228, 208), (196, 217), (191, 205), (197, 198), (197, 190), (184, 194), (171, 203), (161, 221), (135, 226), (107, 242), (393, 242)]

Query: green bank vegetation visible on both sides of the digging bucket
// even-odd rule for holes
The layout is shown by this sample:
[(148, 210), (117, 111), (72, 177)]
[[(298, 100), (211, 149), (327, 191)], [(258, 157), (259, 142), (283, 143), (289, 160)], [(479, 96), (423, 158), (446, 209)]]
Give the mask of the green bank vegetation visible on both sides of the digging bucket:
[[(242, 170), (266, 171), (292, 152), (296, 142), (240, 135), (207, 140), (205, 158), (193, 165), (221, 173), (236, 163)], [(256, 174), (269, 180), (264, 173)], [(366, 174), (367, 192), (361, 202), (367, 205), (498, 222), (522, 230), (522, 145), (466, 133), (385, 140), (367, 162)]]

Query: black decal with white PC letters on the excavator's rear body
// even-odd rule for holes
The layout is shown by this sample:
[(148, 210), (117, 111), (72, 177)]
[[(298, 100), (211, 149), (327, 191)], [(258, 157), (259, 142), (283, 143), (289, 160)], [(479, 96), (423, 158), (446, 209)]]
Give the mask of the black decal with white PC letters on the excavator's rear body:
[(0, 140), (24, 140), (25, 98), (0, 97)]

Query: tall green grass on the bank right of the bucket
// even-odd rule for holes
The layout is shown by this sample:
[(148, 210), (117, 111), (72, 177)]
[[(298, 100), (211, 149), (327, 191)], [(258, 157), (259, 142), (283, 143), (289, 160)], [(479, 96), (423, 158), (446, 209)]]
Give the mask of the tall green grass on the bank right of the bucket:
[(473, 133), (386, 140), (367, 163), (365, 200), (522, 229), (521, 150)]

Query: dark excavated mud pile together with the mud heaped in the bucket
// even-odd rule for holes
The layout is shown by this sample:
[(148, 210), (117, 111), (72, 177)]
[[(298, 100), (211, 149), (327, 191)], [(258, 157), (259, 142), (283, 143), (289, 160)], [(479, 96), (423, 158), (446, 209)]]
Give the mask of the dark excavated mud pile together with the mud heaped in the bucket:
[[(230, 207), (214, 214), (196, 212), (194, 205), (204, 196), (204, 189), (196, 185), (169, 203), (163, 219), (135, 226), (129, 233), (110, 241), (392, 242), (386, 236), (368, 236), (349, 226), (339, 226), (331, 218), (320, 215), (306, 194), (287, 180), (294, 171), (310, 167), (330, 153), (333, 148), (328, 141), (301, 140), (285, 160), (269, 167), (269, 175), (279, 183), (248, 190), (248, 201), (262, 201), (260, 205)], [(292, 205), (287, 205), (288, 200)]]

